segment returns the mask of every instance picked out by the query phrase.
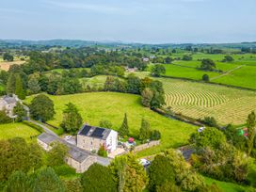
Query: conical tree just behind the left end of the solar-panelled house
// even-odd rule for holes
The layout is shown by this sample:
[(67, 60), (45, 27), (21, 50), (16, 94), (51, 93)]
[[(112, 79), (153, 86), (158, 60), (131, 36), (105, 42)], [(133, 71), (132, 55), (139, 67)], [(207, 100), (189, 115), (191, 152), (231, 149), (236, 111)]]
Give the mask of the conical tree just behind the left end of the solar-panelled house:
[(77, 107), (72, 103), (66, 104), (66, 108), (63, 111), (63, 120), (60, 124), (61, 127), (67, 133), (76, 134), (81, 128), (82, 123), (82, 117)]

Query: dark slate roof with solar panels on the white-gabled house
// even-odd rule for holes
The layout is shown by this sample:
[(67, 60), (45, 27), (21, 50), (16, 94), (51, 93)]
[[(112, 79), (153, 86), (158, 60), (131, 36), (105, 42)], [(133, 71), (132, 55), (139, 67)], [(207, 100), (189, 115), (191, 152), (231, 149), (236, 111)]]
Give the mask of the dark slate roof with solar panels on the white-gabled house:
[(78, 132), (81, 136), (90, 136), (94, 138), (106, 139), (109, 136), (111, 129), (106, 129), (102, 127), (94, 127), (88, 124), (83, 125), (83, 127)]

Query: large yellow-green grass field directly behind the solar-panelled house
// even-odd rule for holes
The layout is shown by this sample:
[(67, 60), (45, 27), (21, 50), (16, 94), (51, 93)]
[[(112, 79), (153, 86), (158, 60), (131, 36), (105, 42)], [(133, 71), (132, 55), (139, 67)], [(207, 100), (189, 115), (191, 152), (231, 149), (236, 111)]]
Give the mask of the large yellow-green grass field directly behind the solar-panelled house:
[[(162, 150), (187, 144), (189, 135), (197, 130), (197, 127), (178, 120), (169, 120), (149, 108), (140, 104), (140, 97), (132, 94), (113, 92), (93, 92), (64, 96), (50, 96), (55, 103), (55, 120), (49, 123), (59, 126), (62, 120), (62, 110), (65, 104), (72, 102), (80, 110), (84, 122), (91, 125), (99, 125), (100, 120), (109, 120), (115, 130), (119, 130), (124, 113), (128, 115), (128, 124), (131, 134), (137, 136), (141, 119), (145, 118), (151, 123), (152, 129), (157, 129), (162, 134), (161, 145), (139, 155), (149, 155)], [(32, 97), (27, 99), (31, 101)]]

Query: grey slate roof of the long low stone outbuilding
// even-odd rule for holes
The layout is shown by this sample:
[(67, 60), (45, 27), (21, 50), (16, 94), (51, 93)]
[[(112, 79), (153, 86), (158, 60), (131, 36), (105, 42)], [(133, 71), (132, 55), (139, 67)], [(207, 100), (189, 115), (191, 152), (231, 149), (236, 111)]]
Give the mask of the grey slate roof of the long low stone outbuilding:
[(59, 142), (63, 143), (64, 145), (66, 145), (69, 148), (69, 150), (70, 150), (69, 154), (72, 157), (72, 159), (78, 161), (79, 163), (82, 163), (83, 161), (85, 161), (88, 158), (88, 156), (90, 155), (89, 152), (81, 150), (80, 148), (72, 145), (71, 143), (68, 143), (67, 141), (59, 138), (58, 136), (53, 136), (51, 134), (42, 133), (40, 136), (38, 136), (38, 139), (40, 139), (40, 141), (46, 143), (47, 145), (50, 145), (54, 141), (59, 141)]

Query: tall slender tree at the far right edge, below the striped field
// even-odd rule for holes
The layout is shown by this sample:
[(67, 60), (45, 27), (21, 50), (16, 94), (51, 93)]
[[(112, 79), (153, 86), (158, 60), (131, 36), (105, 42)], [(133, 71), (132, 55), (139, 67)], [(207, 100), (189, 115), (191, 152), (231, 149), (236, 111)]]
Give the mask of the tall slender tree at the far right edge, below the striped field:
[(255, 128), (256, 127), (256, 115), (252, 111), (248, 115), (248, 155), (253, 149), (254, 137), (255, 137)]

